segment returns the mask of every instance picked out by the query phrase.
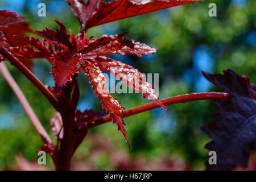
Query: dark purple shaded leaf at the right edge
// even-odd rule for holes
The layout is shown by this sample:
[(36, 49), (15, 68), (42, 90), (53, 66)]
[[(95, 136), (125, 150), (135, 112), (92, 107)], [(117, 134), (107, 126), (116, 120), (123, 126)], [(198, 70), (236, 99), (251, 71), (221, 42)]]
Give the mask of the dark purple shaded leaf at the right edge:
[(205, 147), (217, 153), (217, 164), (209, 165), (207, 161), (207, 169), (229, 170), (237, 164), (246, 167), (256, 140), (256, 86), (250, 84), (249, 77), (239, 76), (231, 69), (224, 75), (203, 75), (229, 93), (228, 101), (214, 102), (220, 109), (213, 113), (214, 121), (201, 127), (212, 138)]

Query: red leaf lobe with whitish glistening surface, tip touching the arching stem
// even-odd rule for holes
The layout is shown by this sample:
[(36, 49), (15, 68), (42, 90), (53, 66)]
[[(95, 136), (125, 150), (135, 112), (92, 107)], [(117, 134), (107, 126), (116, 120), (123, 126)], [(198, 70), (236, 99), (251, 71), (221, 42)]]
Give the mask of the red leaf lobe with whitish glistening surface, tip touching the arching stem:
[(155, 90), (152, 89), (153, 86), (146, 81), (146, 76), (139, 72), (138, 69), (108, 57), (97, 57), (96, 60), (95, 64), (98, 67), (114, 74), (127, 86), (131, 86), (134, 91), (142, 93), (143, 98), (147, 97), (151, 101), (154, 100), (158, 102), (163, 109), (166, 109), (162, 102), (158, 101), (159, 98), (155, 95)]

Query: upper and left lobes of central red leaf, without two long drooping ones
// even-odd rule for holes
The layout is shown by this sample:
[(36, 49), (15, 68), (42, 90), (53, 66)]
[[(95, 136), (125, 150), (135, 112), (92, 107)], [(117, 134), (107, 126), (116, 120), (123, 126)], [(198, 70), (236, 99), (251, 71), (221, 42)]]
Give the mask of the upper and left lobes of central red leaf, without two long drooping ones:
[[(55, 93), (59, 92), (63, 85), (67, 85), (67, 82), (72, 81), (72, 76), (80, 71), (77, 69), (79, 64), (83, 64), (83, 61), (89, 59), (95, 59), (100, 55), (109, 54), (122, 54), (132, 53), (138, 56), (142, 54), (155, 53), (156, 49), (135, 42), (134, 40), (126, 40), (123, 38), (125, 34), (119, 35), (104, 35), (97, 39), (86, 39), (86, 35), (82, 37), (73, 36), (71, 32), (72, 42), (69, 40), (69, 34), (61, 22), (55, 20), (59, 24), (60, 30), (52, 30), (47, 28), (43, 31), (35, 31), (36, 34), (44, 38), (44, 42), (48, 42), (49, 45), (55, 44), (55, 52), (52, 49), (46, 48), (46, 46), (39, 42), (35, 38), (23, 38), (27, 43), (38, 49), (39, 52), (49, 57), (50, 63), (53, 65), (51, 73), (53, 73), (53, 79), (55, 80)], [(52, 53), (53, 52), (53, 53)], [(79, 58), (82, 57), (82, 61)], [(81, 60), (81, 59), (80, 59)]]

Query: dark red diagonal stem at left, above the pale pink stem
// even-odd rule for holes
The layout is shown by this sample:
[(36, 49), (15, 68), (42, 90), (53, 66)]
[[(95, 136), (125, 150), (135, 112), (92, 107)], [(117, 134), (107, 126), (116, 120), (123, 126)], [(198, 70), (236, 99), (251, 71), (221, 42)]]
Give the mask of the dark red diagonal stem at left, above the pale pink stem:
[(7, 51), (5, 48), (0, 48), (0, 53), (6, 57), (7, 60), (10, 61), (11, 64), (14, 65), (20, 72), (23, 73), (24, 76), (28, 78), (40, 90), (40, 92), (43, 93), (43, 95), (47, 98), (47, 100), (51, 103), (51, 105), (58, 111), (59, 110), (59, 103), (57, 101), (57, 98), (46, 88), (46, 86), (38, 80), (38, 78), (29, 70), (27, 67), (25, 67), (16, 57), (11, 55), (9, 51)]

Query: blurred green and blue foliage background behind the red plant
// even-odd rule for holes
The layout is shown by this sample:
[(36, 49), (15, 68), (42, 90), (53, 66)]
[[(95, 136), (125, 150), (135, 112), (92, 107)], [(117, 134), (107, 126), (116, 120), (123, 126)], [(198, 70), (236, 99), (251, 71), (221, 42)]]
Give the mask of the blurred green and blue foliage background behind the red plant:
[[(37, 15), (38, 3), (44, 2), (47, 16)], [(208, 15), (209, 3), (217, 5), (217, 17)], [(182, 7), (161, 10), (147, 15), (119, 20), (91, 28), (87, 36), (118, 34), (129, 31), (129, 39), (147, 43), (158, 49), (158, 55), (142, 58), (133, 55), (115, 56), (138, 68), (143, 73), (159, 73), (159, 97), (171, 97), (193, 92), (219, 91), (212, 87), (200, 71), (221, 73), (231, 68), (240, 75), (248, 75), (256, 82), (256, 1), (212, 0)], [(42, 30), (45, 26), (57, 28), (53, 18), (63, 22), (74, 34), (79, 32), (79, 22), (64, 0), (53, 1), (1, 1), (0, 9), (16, 11), (27, 18), (31, 28)], [(20, 85), (35, 113), (51, 133), (49, 119), (55, 111), (47, 100), (24, 76), (6, 63)], [(44, 83), (53, 86), (49, 74), (50, 65), (45, 60), (34, 61), (35, 75)], [(96, 94), (84, 75), (78, 77), (81, 90), (80, 109), (102, 110)], [(114, 94), (126, 109), (142, 105), (141, 94)], [(112, 123), (98, 126), (89, 131), (88, 137), (100, 135), (109, 140), (118, 150), (125, 151), (130, 159), (155, 160), (168, 156), (183, 159), (190, 169), (204, 169), (209, 142), (200, 126), (210, 122), (210, 113), (216, 108), (212, 101), (197, 101), (168, 106), (168, 110), (155, 109), (125, 118), (130, 138), (129, 150), (122, 134)], [(51, 134), (53, 139), (53, 135)], [(86, 163), (92, 151), (92, 140), (86, 140), (78, 148), (74, 162)], [(0, 77), (0, 169), (15, 168), (15, 154), (21, 152), (28, 160), (37, 160), (37, 151), (42, 145), (39, 135), (32, 127), (27, 115), (13, 92)], [(93, 169), (118, 169), (106, 149), (90, 159)], [(105, 152), (104, 152), (105, 151)], [(166, 159), (168, 160), (168, 159)], [(47, 158), (47, 167), (53, 168)], [(154, 168), (152, 168), (154, 169)], [(155, 166), (158, 169), (158, 166)]]

